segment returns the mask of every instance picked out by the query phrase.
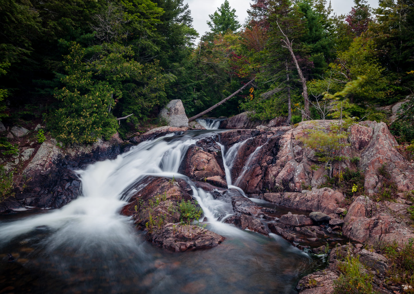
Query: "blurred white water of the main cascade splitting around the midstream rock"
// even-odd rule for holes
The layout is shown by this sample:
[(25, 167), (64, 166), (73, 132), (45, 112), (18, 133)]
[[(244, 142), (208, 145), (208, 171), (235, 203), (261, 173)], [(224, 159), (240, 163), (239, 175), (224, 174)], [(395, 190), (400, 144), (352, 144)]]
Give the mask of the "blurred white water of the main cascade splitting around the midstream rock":
[(193, 197), (207, 216), (210, 229), (218, 233), (239, 234), (240, 230), (222, 223), (232, 212), (231, 205), (214, 199), (211, 194), (196, 188), (188, 177), (178, 173), (188, 147), (199, 138), (173, 136), (169, 134), (143, 142), (115, 160), (96, 162), (86, 170), (77, 171), (82, 180), (80, 197), (50, 213), (2, 224), (0, 245), (41, 226), (54, 231), (54, 236), (51, 236), (53, 241), (49, 244), (52, 247), (73, 243), (75, 239), (83, 240), (82, 244), (101, 239), (105, 243), (132, 245), (135, 242), (130, 237), (132, 226), (119, 211), (133, 194), (145, 186), (144, 180), (151, 175), (186, 180), (192, 186)]

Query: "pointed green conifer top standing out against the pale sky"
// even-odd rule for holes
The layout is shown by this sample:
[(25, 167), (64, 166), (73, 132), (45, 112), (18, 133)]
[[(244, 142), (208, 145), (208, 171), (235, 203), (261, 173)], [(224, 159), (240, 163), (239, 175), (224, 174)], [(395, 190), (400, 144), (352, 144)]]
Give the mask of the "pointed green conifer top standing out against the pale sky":
[[(217, 12), (218, 10), (218, 12)], [(213, 33), (225, 33), (227, 30), (236, 32), (240, 29), (241, 24), (236, 20), (236, 9), (231, 9), (228, 0), (224, 0), (224, 3), (220, 7), (217, 7), (214, 14), (209, 15), (211, 21), (207, 22), (208, 26)]]

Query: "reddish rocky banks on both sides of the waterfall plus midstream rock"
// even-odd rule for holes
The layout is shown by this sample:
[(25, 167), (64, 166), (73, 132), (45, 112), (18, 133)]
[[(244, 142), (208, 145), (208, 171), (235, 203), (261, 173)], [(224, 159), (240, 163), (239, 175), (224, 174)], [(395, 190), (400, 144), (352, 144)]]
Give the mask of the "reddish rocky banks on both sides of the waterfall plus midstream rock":
[[(328, 128), (332, 121), (317, 124)], [(181, 209), (184, 203), (199, 211), (193, 199), (195, 190), (188, 184), (192, 181), (197, 189), (231, 207), (231, 216), (220, 216), (226, 223), (265, 236), (277, 234), (315, 254), (327, 254), (335, 248), (329, 255), (328, 269), (304, 277), (297, 287), (303, 293), (331, 293), (332, 281), (341, 275), (340, 262), (350, 255), (369, 260), (374, 258), (372, 254), (379, 254), (380, 244), (396, 242), (402, 247), (414, 238), (414, 163), (394, 148), (397, 143), (384, 123), (365, 121), (349, 127), (342, 160), (327, 166), (298, 139), (313, 128), (315, 124), (309, 122), (294, 127), (260, 125), (198, 139), (187, 149), (178, 170), (187, 181), (148, 177), (145, 187), (136, 187), (121, 213), (132, 217), (148, 241), (163, 248), (185, 251), (217, 246), (224, 237), (191, 225), (187, 211)], [(134, 140), (138, 143), (169, 133), (182, 134), (186, 129), (165, 126)], [(3, 212), (28, 206), (62, 207), (81, 189), (72, 170), (115, 158), (131, 146), (116, 136), (87, 147), (61, 148), (56, 143), (46, 141), (28, 156), (22, 168), (26, 188), (1, 204)], [(327, 170), (332, 171), (332, 179)], [(343, 175), (349, 176), (349, 181), (341, 179)], [(355, 187), (349, 186), (352, 183)], [(351, 188), (355, 190), (350, 192)], [(208, 221), (205, 217), (205, 224)], [(338, 247), (344, 238), (351, 243)], [(384, 261), (385, 257), (375, 258)], [(373, 274), (375, 289), (381, 293), (402, 290), (387, 282), (384, 271), (383, 276)], [(318, 288), (320, 292), (315, 292)]]

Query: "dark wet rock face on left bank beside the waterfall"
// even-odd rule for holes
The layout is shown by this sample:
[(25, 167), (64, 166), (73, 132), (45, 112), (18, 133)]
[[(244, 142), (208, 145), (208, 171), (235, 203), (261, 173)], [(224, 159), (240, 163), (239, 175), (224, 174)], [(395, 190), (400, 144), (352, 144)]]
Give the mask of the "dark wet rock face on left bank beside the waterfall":
[[(55, 140), (43, 142), (23, 171), (28, 179), (27, 187), (16, 193), (14, 200), (24, 206), (62, 207), (81, 191), (81, 182), (72, 170), (82, 169), (96, 160), (115, 158), (121, 152), (121, 142), (116, 135), (110, 141), (99, 140), (91, 146), (66, 149), (57, 147)], [(30, 157), (33, 151), (26, 149), (22, 157)]]

